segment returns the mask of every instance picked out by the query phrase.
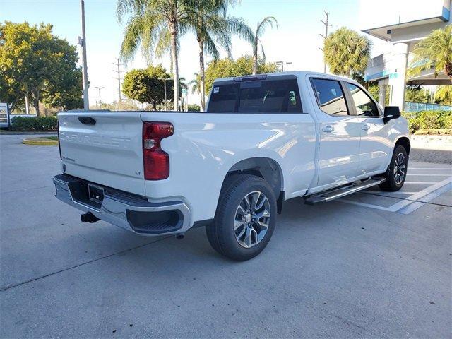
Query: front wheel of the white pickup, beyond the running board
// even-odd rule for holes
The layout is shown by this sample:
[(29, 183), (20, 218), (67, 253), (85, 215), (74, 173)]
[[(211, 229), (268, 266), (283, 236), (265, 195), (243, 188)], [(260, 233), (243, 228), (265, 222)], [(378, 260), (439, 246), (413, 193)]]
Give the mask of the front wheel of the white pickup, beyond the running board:
[[(403, 160), (403, 161), (400, 161)], [(391, 163), (389, 164), (388, 172), (386, 172), (386, 181), (380, 184), (380, 189), (383, 191), (395, 192), (402, 188), (403, 183), (407, 177), (408, 169), (408, 154), (405, 147), (397, 145), (394, 149)], [(402, 174), (403, 173), (403, 174)], [(396, 174), (400, 177), (396, 179)]]

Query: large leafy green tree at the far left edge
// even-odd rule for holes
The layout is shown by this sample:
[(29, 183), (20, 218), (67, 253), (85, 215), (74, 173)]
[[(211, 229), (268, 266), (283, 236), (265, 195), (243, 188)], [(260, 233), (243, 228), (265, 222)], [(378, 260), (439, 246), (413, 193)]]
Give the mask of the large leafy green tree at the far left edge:
[[(30, 95), (36, 113), (40, 101), (57, 107), (64, 100), (74, 108), (81, 98), (81, 69), (77, 66), (76, 47), (52, 34), (52, 25), (30, 26), (28, 23), (0, 23), (0, 74), (6, 88), (0, 90), (0, 100), (17, 102)], [(3, 87), (3, 86), (2, 86)], [(59, 96), (59, 100), (52, 98)]]

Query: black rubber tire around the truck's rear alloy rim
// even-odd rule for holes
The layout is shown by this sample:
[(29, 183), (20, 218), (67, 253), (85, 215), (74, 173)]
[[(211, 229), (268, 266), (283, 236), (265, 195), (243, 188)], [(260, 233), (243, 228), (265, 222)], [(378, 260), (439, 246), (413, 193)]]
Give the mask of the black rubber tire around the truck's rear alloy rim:
[[(237, 239), (237, 233), (241, 233), (241, 230), (247, 232), (246, 222), (242, 222), (243, 228), (241, 230), (239, 230), (239, 227), (234, 230), (234, 222), (237, 218), (237, 213), (239, 213), (239, 204), (242, 204), (245, 197), (250, 194), (256, 194), (254, 192), (263, 194), (262, 196), (258, 195), (257, 201), (259, 201), (259, 198), (267, 198), (268, 205), (266, 204), (266, 206), (270, 208), (270, 216), (267, 219), (263, 219), (267, 220), (268, 228), (263, 228), (266, 232), (263, 234), (262, 239), (258, 241), (258, 232), (253, 231), (254, 233), (252, 234), (256, 234), (254, 236), (256, 244), (246, 248), (239, 244), (239, 239)], [(254, 200), (254, 198), (252, 199)], [(275, 217), (276, 199), (270, 185), (261, 177), (249, 174), (235, 174), (225, 179), (218, 201), (215, 220), (212, 224), (206, 226), (207, 237), (210, 245), (218, 253), (235, 261), (246, 261), (257, 256), (267, 246), (275, 230)], [(258, 227), (257, 224), (256, 226)], [(246, 234), (244, 235), (246, 236)], [(251, 240), (251, 238), (250, 233), (249, 238), (246, 239)]]

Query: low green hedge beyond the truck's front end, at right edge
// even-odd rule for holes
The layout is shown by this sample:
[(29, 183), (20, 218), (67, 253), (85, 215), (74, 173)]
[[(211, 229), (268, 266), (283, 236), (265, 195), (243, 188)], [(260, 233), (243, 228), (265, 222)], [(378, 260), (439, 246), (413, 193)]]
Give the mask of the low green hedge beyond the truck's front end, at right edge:
[(451, 111), (404, 112), (402, 115), (408, 119), (411, 133), (420, 129), (452, 129)]

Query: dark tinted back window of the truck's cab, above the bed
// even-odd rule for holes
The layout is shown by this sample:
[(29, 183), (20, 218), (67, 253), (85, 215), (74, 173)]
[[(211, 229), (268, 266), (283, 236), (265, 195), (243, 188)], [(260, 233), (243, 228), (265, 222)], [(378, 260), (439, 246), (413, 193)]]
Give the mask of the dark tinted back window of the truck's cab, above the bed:
[(300, 113), (302, 103), (297, 79), (214, 85), (208, 112)]

